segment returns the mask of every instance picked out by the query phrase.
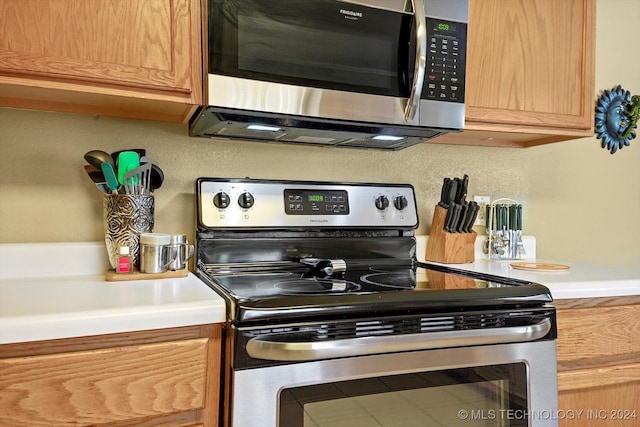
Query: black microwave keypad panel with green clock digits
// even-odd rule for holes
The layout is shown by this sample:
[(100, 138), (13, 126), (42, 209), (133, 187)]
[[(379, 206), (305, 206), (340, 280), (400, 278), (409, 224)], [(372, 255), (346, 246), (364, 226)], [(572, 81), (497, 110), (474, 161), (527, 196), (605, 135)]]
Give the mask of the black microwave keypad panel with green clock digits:
[(427, 17), (422, 99), (464, 103), (467, 24)]

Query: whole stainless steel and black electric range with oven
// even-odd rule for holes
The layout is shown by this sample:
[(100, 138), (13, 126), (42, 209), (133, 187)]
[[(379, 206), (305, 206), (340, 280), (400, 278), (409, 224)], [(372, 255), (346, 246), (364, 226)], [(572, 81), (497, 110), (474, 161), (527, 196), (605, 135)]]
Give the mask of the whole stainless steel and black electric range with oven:
[(199, 178), (226, 426), (556, 426), (549, 290), (416, 260), (410, 185)]

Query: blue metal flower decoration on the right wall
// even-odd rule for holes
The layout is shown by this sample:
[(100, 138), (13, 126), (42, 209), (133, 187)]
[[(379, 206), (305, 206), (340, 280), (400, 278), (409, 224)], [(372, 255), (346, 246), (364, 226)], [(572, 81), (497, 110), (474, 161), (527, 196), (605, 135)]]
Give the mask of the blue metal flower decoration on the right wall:
[(640, 96), (631, 96), (620, 85), (605, 90), (596, 104), (595, 133), (602, 148), (615, 153), (636, 137)]

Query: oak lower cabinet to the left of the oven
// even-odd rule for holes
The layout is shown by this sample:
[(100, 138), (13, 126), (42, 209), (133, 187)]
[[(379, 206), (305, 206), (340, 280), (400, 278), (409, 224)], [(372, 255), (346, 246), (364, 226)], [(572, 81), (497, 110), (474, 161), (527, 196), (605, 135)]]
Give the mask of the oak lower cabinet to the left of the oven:
[(217, 426), (221, 326), (0, 346), (0, 425)]

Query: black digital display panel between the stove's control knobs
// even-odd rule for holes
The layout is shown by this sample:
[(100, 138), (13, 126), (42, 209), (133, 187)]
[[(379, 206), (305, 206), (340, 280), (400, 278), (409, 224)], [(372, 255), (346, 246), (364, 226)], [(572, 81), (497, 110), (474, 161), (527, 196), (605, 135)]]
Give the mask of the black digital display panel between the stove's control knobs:
[(345, 190), (284, 190), (287, 215), (349, 215), (349, 194)]

